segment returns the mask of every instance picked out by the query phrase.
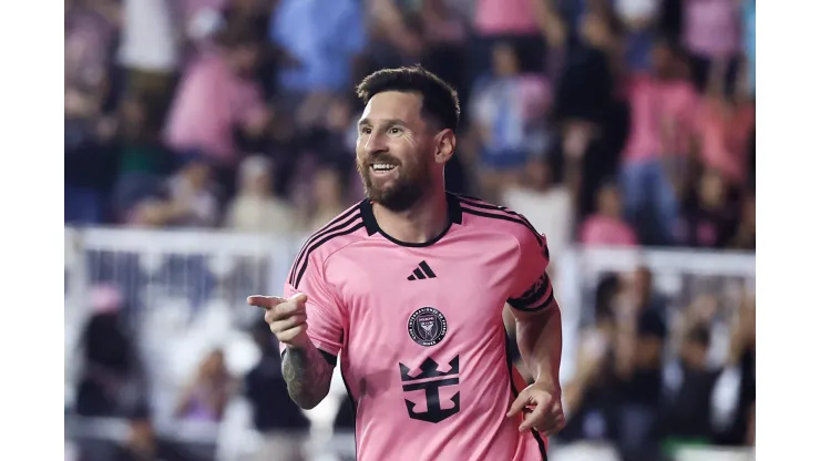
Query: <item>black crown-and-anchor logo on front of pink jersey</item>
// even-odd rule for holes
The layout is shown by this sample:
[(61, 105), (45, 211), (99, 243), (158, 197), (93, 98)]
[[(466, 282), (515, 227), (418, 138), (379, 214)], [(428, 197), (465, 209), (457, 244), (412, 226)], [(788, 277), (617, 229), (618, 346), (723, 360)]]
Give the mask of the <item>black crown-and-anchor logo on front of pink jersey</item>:
[[(427, 358), (421, 363), (421, 371), (416, 376), (410, 376), (410, 368), (404, 363), (399, 363), (399, 371), (401, 372), (402, 390), (404, 392), (411, 392), (417, 390), (424, 391), (424, 400), (427, 401), (427, 411), (416, 411), (416, 403), (411, 400), (404, 399), (404, 406), (407, 407), (407, 413), (410, 418), (426, 422), (441, 422), (461, 410), (461, 392), (450, 399), (452, 404), (450, 408), (441, 407), (441, 396), (439, 395), (439, 388), (445, 386), (455, 386), (459, 383), (459, 356), (455, 356), (450, 360), (450, 370), (439, 371), (439, 363)], [(423, 381), (423, 382), (418, 382)]]

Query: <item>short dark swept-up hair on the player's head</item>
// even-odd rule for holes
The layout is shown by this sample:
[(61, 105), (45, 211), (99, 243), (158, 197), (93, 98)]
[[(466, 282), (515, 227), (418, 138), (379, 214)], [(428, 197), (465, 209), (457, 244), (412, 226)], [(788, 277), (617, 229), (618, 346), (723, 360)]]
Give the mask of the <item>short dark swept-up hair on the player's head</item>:
[(461, 106), (455, 90), (420, 64), (412, 68), (382, 69), (366, 76), (356, 88), (363, 104), (386, 91), (421, 94), (421, 112), (444, 129), (459, 127)]

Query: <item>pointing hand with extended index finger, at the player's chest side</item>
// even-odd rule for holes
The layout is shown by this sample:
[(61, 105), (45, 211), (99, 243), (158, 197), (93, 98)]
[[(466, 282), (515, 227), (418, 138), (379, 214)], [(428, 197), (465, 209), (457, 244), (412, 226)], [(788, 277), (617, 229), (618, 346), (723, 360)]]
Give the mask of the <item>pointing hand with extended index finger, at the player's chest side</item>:
[(304, 348), (310, 340), (307, 336), (307, 313), (305, 303), (307, 295), (298, 293), (289, 299), (277, 296), (250, 296), (250, 306), (262, 307), (265, 321), (279, 342), (295, 348)]

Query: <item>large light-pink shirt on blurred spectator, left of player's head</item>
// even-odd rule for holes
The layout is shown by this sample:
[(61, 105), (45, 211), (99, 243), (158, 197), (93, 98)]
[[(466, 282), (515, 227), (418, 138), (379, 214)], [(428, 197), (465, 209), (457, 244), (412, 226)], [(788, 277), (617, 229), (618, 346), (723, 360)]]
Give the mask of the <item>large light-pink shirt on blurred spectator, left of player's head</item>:
[(264, 111), (262, 89), (235, 75), (218, 54), (192, 63), (177, 90), (166, 141), (177, 151), (199, 150), (219, 163), (236, 161), (233, 127)]

